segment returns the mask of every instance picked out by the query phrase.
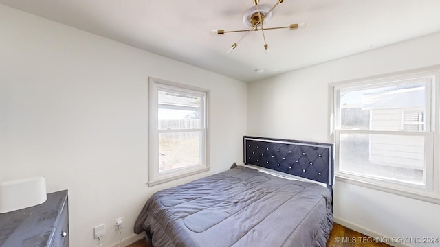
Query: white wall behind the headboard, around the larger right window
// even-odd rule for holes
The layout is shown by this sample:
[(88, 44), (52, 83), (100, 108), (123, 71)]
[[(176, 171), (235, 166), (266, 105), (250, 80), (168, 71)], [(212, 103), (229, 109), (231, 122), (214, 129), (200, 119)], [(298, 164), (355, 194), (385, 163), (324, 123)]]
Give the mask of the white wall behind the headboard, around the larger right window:
[[(329, 83), (440, 64), (439, 44), (440, 34), (432, 34), (254, 82), (248, 87), (248, 134), (332, 141)], [(438, 204), (337, 181), (333, 205), (337, 220), (364, 233), (440, 237)]]

